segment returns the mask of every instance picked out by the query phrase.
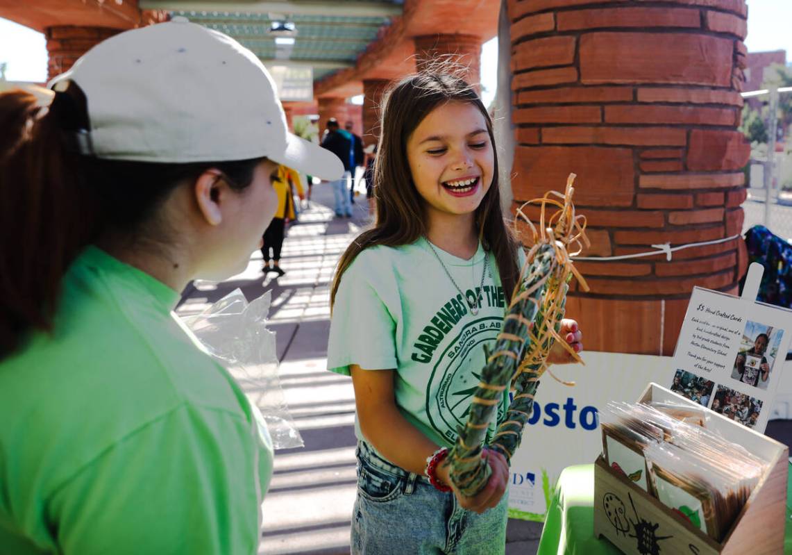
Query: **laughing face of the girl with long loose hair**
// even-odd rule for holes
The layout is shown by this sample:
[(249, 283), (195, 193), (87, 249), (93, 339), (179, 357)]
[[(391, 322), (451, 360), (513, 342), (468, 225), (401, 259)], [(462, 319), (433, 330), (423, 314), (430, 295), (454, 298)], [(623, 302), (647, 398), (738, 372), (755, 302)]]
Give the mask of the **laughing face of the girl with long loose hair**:
[(495, 156), (483, 114), (467, 102), (437, 106), (407, 139), (407, 161), (429, 220), (471, 214), (493, 182)]

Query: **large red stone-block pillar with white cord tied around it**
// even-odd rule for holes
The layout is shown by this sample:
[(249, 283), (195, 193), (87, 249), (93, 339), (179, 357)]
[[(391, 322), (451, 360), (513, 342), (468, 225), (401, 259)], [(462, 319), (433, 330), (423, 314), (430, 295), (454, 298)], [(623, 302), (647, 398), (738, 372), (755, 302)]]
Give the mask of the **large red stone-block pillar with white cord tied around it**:
[[(562, 191), (576, 173), (588, 256), (740, 233), (749, 155), (737, 132), (744, 0), (575, 4), (508, 4), (516, 201)], [(741, 239), (680, 251), (671, 262), (581, 261), (591, 292), (574, 290), (567, 312), (581, 321), (589, 350), (671, 355), (693, 286), (736, 293), (745, 266)]]

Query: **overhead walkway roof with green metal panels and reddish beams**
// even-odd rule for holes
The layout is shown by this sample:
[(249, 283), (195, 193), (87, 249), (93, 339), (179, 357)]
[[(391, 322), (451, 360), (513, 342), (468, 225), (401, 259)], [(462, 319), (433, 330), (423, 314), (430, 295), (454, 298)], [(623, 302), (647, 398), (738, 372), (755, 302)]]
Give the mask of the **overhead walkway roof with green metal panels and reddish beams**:
[[(311, 95), (349, 98), (364, 92), (366, 80), (415, 71), (416, 37), (489, 40), (500, 6), (500, 0), (0, 0), (0, 17), (42, 33), (72, 26), (120, 31), (187, 17), (250, 48), (269, 67), (281, 98), (299, 102)], [(89, 46), (51, 44), (70, 58)]]

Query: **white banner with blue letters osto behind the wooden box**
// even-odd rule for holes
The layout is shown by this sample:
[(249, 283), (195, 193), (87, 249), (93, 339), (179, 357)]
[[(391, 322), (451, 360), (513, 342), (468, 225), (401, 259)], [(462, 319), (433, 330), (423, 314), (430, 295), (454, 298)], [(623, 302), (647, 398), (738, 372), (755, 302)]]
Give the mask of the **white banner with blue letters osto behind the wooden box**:
[(512, 457), (509, 516), (543, 521), (559, 474), (569, 465), (589, 464), (602, 451), (600, 408), (610, 400), (634, 402), (646, 384), (670, 384), (671, 357), (641, 354), (583, 355), (585, 366), (552, 367), (574, 386), (545, 373), (520, 449)]

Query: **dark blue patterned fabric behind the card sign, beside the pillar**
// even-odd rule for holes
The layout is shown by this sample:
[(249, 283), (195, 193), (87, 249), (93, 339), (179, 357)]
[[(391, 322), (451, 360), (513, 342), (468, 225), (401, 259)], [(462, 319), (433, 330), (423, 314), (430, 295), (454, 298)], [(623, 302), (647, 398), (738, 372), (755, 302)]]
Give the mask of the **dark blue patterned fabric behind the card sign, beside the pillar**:
[(745, 232), (745, 245), (748, 262), (764, 266), (756, 300), (792, 307), (792, 244), (773, 235), (763, 225), (755, 225)]

